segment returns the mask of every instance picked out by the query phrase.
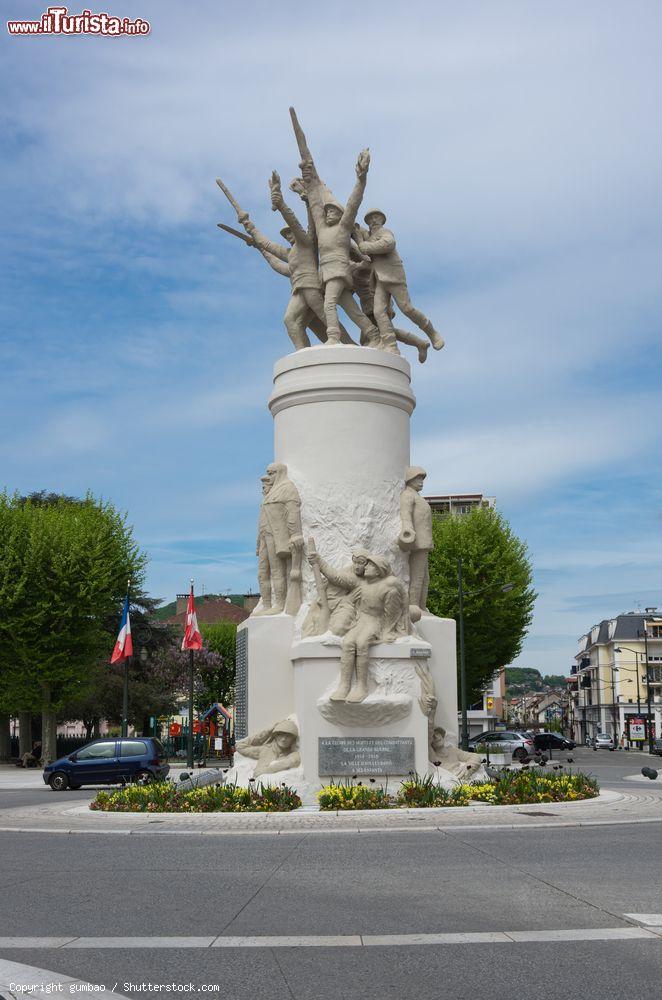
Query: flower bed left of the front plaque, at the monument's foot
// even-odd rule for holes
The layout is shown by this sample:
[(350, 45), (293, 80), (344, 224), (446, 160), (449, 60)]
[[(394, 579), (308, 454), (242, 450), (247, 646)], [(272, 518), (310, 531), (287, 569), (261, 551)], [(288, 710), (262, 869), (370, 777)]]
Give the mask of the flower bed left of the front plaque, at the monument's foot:
[(301, 799), (287, 785), (251, 784), (207, 785), (192, 791), (179, 791), (177, 785), (163, 781), (150, 785), (129, 785), (113, 792), (98, 792), (90, 809), (100, 812), (291, 812)]

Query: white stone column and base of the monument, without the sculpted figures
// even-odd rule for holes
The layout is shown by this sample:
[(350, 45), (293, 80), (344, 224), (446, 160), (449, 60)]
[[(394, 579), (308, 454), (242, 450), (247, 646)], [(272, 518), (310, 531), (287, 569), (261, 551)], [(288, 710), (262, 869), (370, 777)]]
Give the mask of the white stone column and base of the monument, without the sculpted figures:
[[(298, 491), (304, 538), (314, 538), (322, 560), (338, 568), (357, 551), (381, 556), (405, 586), (409, 556), (398, 537), (414, 406), (407, 361), (342, 345), (281, 358), (269, 400), (274, 461)], [(302, 635), (318, 596), (307, 559), (302, 570), (296, 617), (261, 615), (258, 605), (239, 626), (238, 737), (296, 719), (294, 783), (431, 770), (431, 730), (441, 726), (451, 739), (457, 732), (455, 622), (423, 611), (409, 634), (372, 644), (367, 697), (334, 702), (342, 637)]]

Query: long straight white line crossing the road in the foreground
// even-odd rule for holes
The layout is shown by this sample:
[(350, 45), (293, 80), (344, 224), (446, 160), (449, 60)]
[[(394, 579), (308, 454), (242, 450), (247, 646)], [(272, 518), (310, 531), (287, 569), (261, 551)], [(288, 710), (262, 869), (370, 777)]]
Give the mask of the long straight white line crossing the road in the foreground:
[(456, 931), (440, 934), (210, 935), (209, 937), (3, 937), (0, 948), (398, 948), (410, 945), (531, 944), (567, 941), (662, 941), (659, 927), (577, 927), (526, 931)]

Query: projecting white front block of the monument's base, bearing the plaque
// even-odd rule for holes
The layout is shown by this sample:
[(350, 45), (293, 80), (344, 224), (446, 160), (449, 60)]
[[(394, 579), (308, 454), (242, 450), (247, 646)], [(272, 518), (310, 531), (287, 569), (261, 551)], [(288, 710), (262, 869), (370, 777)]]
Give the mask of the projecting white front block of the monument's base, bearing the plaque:
[(417, 667), (430, 652), (429, 643), (413, 636), (371, 647), (368, 696), (348, 702), (330, 697), (340, 676), (337, 637), (294, 644), (294, 704), (304, 780), (324, 784), (354, 775), (398, 779), (428, 770), (428, 719), (419, 705)]

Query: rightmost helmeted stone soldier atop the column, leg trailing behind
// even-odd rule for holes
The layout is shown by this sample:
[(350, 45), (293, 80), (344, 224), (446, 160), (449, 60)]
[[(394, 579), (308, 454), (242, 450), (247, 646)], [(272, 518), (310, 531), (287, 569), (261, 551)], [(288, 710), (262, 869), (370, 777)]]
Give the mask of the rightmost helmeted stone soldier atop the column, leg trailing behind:
[(368, 226), (368, 233), (359, 241), (358, 249), (360, 253), (370, 257), (375, 268), (375, 320), (382, 341), (385, 345), (395, 343), (395, 331), (389, 315), (392, 296), (400, 312), (423, 331), (436, 351), (440, 351), (444, 346), (443, 337), (409, 297), (407, 276), (395, 247), (395, 236), (390, 229), (385, 228), (386, 215), (380, 208), (371, 208), (366, 212), (364, 221)]

